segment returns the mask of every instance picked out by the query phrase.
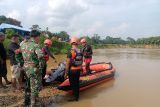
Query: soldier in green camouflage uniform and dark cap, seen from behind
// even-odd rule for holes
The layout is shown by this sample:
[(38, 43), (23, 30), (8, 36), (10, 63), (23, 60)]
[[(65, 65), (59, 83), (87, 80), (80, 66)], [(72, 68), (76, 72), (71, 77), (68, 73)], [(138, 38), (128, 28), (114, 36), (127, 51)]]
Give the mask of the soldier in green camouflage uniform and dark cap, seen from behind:
[(24, 60), (24, 71), (26, 74), (25, 105), (39, 106), (38, 94), (41, 89), (41, 69), (44, 56), (38, 44), (40, 33), (31, 31), (31, 39), (21, 44), (20, 51)]

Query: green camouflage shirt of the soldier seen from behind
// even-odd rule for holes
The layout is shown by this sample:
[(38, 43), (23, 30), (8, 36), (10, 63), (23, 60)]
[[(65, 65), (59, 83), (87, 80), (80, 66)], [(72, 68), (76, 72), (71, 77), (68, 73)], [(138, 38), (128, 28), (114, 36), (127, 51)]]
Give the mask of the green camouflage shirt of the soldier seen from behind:
[(44, 55), (39, 44), (35, 43), (34, 40), (26, 41), (21, 44), (20, 51), (22, 52), (25, 65), (32, 64), (42, 67)]

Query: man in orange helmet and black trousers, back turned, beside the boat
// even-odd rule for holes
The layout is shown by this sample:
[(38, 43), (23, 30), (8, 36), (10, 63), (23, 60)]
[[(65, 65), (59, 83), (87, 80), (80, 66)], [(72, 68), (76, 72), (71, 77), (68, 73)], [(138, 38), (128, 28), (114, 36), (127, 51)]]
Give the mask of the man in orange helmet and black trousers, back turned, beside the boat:
[(66, 62), (66, 73), (69, 76), (69, 82), (73, 91), (73, 98), (69, 101), (78, 101), (79, 99), (79, 78), (82, 70), (83, 54), (78, 49), (78, 38), (72, 37), (70, 40), (72, 48), (68, 51)]

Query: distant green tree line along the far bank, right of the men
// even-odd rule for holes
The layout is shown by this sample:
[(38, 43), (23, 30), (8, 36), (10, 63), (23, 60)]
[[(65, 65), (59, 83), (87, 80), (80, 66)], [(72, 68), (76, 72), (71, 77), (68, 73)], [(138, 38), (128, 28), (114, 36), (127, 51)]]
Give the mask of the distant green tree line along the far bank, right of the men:
[(101, 36), (94, 35), (93, 37), (86, 37), (88, 42), (92, 45), (95, 44), (129, 44), (129, 45), (160, 45), (160, 36), (147, 37), (147, 38), (138, 38), (137, 40), (131, 37), (122, 39), (121, 37), (111, 37), (106, 36), (104, 39), (101, 39)]

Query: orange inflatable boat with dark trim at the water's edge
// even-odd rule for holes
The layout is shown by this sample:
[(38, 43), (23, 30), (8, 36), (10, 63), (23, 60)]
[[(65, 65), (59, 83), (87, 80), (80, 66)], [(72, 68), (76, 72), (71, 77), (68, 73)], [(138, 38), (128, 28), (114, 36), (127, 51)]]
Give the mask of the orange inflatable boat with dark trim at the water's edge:
[[(101, 82), (113, 79), (115, 68), (109, 63), (95, 63), (90, 65), (92, 74), (86, 75), (86, 70), (83, 67), (83, 72), (80, 76), (80, 90), (95, 86)], [(58, 86), (59, 90), (71, 91), (69, 79), (66, 79)]]

